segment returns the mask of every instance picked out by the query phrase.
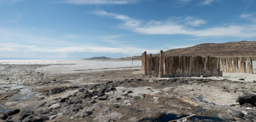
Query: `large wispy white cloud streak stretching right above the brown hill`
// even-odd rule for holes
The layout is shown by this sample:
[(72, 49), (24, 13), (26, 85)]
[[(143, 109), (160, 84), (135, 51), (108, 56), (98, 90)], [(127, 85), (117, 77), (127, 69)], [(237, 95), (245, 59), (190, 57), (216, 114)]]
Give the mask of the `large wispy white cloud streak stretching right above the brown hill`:
[(255, 37), (256, 24), (248, 25), (229, 25), (211, 28), (194, 28), (205, 24), (202, 19), (195, 19), (191, 16), (185, 19), (167, 20), (165, 22), (150, 20), (143, 23), (142, 20), (130, 18), (127, 15), (114, 14), (106, 11), (93, 12), (96, 15), (110, 16), (113, 19), (122, 20), (123, 28), (134, 32), (150, 35), (192, 35), (192, 36), (234, 36), (234, 37)]

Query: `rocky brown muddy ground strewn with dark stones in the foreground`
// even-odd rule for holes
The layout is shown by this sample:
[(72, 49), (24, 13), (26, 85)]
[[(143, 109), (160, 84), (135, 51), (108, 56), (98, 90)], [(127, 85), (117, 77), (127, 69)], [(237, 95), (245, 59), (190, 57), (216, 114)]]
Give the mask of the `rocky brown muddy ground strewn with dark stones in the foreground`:
[(256, 121), (255, 81), (40, 72), (46, 66), (0, 65), (1, 121)]

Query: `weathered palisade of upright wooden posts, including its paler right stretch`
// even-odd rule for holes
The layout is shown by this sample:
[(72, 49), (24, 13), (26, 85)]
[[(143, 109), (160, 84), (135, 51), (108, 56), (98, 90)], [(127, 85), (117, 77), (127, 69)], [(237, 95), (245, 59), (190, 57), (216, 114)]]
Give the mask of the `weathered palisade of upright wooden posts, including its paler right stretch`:
[[(238, 68), (238, 58), (201, 57), (201, 56), (164, 56), (160, 51), (159, 56), (147, 56), (147, 52), (142, 54), (142, 70), (144, 74), (154, 75), (154, 77), (204, 77), (222, 76), (222, 71), (229, 73), (253, 73), (251, 58), (240, 58), (240, 68)], [(234, 62), (234, 63), (233, 63)]]

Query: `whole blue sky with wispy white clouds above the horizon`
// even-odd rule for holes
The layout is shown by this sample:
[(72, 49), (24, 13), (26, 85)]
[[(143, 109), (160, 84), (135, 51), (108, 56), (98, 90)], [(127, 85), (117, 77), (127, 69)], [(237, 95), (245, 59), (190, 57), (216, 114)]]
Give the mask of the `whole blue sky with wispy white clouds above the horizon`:
[(254, 0), (0, 0), (0, 59), (139, 56), (256, 40)]

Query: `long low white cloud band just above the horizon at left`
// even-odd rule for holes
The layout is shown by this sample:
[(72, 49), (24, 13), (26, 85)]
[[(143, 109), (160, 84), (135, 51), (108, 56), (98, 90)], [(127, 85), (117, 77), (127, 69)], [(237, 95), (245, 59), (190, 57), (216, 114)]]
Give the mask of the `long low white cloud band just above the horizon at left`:
[[(141, 54), (147, 51), (148, 53), (157, 53), (159, 50), (148, 50), (134, 47), (102, 47), (102, 46), (80, 46), (80, 47), (38, 47), (37, 45), (20, 45), (16, 43), (0, 43), (1, 54), (5, 53), (72, 53), (72, 52), (91, 52), (91, 53), (123, 53), (123, 54)], [(0, 54), (0, 56), (1, 56)], [(20, 56), (19, 56), (20, 57)]]

